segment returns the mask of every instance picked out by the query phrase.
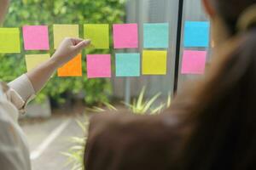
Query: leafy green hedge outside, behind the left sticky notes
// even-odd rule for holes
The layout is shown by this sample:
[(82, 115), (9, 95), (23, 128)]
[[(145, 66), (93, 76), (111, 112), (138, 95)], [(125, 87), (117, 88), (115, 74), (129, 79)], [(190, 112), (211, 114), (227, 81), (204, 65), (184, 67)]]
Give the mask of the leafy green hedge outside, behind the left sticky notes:
[[(80, 36), (83, 36), (84, 23), (122, 23), (125, 18), (125, 2), (121, 0), (13, 0), (4, 27), (21, 27), (24, 25), (48, 25), (49, 39), (53, 54), (53, 24), (79, 24)], [(21, 32), (21, 30), (20, 30)], [(22, 39), (22, 38), (21, 38)], [(111, 40), (112, 41), (112, 40)], [(22, 42), (22, 41), (21, 41)], [(112, 44), (112, 42), (111, 42)], [(23, 47), (23, 45), (22, 45)], [(85, 50), (83, 52), (83, 73), (85, 71), (85, 54), (113, 53), (110, 50)], [(34, 51), (21, 54), (0, 54), (0, 77), (9, 82), (26, 71), (25, 54), (40, 54)], [(90, 79), (83, 77), (52, 77), (46, 88), (38, 94), (40, 102), (49, 96), (57, 103), (65, 101), (62, 94), (85, 94), (84, 101), (91, 105), (108, 101), (111, 85), (108, 79)]]

